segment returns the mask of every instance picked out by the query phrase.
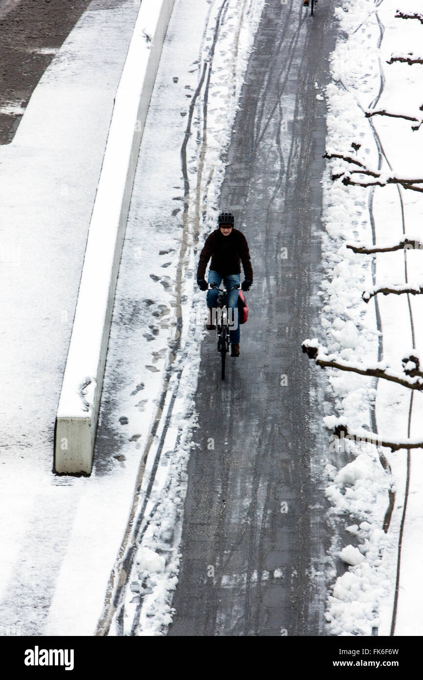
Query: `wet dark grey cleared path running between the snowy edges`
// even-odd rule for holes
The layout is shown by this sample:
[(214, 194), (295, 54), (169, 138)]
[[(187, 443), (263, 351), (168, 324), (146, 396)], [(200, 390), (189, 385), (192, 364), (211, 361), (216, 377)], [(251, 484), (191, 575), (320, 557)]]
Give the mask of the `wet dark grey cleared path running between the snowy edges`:
[(328, 540), (312, 471), (321, 413), (301, 340), (314, 335), (322, 276), (325, 102), (314, 83), (329, 80), (335, 2), (314, 18), (288, 2), (265, 5), (229, 149), (221, 209), (249, 241), (251, 318), (224, 383), (214, 335), (202, 345), (169, 635), (325, 634), (313, 575)]

